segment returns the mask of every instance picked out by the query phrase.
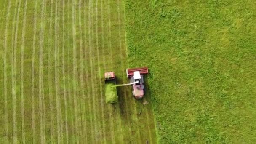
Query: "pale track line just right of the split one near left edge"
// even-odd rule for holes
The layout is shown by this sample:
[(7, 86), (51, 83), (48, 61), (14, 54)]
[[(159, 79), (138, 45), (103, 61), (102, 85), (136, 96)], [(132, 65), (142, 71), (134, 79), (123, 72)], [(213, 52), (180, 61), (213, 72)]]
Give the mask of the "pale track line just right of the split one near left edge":
[(26, 143), (25, 139), (25, 122), (24, 122), (24, 45), (25, 45), (25, 33), (26, 33), (26, 20), (27, 20), (27, 0), (25, 0), (24, 17), (22, 24), (22, 36), (21, 36), (21, 131), (22, 131), (22, 143)]

